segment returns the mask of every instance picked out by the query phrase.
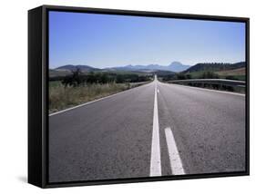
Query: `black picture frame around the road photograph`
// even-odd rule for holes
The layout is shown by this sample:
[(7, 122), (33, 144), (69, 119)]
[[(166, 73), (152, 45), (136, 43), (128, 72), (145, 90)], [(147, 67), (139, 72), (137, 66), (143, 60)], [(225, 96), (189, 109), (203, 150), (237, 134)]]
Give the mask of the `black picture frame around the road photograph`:
[[(246, 24), (246, 170), (133, 179), (48, 182), (48, 12), (78, 12), (103, 15), (136, 15)], [(185, 15), (131, 10), (42, 5), (28, 11), (28, 182), (40, 188), (101, 185), (172, 179), (204, 179), (250, 174), (250, 19), (217, 15)]]

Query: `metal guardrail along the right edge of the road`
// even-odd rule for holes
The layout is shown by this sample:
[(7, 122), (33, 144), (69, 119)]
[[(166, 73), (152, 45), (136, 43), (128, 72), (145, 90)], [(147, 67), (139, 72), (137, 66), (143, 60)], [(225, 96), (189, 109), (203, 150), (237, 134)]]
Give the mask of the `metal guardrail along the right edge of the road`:
[(189, 80), (174, 80), (169, 81), (169, 83), (178, 84), (210, 84), (210, 85), (220, 85), (220, 86), (231, 86), (245, 88), (246, 82), (235, 81), (235, 80), (225, 80), (225, 79), (189, 79)]

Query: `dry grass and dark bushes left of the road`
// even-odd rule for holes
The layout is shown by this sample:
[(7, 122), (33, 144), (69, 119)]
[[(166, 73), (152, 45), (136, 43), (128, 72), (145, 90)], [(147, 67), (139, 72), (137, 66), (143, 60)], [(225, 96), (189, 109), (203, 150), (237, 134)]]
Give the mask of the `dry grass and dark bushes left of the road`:
[(84, 102), (97, 100), (150, 82), (152, 76), (135, 73), (81, 73), (49, 81), (49, 113), (58, 112)]

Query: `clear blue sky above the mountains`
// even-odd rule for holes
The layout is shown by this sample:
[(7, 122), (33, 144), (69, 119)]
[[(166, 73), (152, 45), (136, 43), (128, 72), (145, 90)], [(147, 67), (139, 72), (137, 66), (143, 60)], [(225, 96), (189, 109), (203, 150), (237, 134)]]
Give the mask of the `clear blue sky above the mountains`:
[(124, 15), (49, 13), (50, 68), (173, 61), (245, 61), (245, 24)]

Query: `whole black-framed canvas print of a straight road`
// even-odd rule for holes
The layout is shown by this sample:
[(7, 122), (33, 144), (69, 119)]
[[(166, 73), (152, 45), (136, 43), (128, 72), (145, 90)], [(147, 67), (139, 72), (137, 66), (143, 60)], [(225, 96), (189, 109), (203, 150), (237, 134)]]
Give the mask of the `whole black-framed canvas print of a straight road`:
[(249, 18), (28, 11), (28, 182), (249, 175)]

